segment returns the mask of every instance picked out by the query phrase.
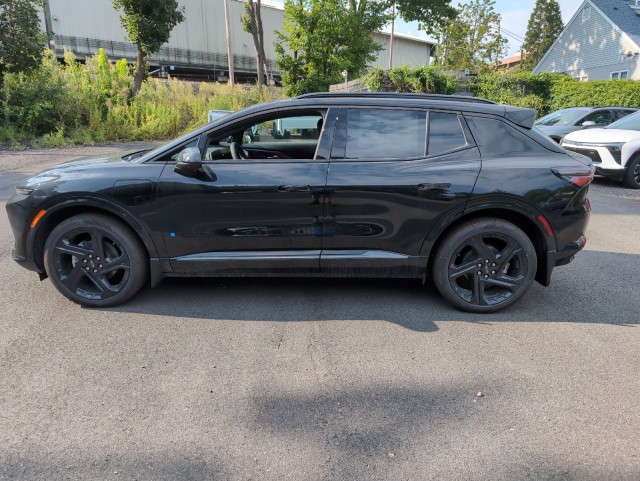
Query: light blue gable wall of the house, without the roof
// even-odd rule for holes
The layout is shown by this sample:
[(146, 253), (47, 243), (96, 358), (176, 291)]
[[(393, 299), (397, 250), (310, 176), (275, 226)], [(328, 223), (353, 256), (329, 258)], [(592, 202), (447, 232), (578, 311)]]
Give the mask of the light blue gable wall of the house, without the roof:
[[(591, 8), (588, 18), (582, 15), (585, 6)], [(533, 71), (607, 80), (613, 71), (628, 70), (629, 78), (639, 79), (640, 54), (633, 55), (638, 51), (635, 43), (586, 2)], [(627, 57), (627, 52), (632, 56)]]

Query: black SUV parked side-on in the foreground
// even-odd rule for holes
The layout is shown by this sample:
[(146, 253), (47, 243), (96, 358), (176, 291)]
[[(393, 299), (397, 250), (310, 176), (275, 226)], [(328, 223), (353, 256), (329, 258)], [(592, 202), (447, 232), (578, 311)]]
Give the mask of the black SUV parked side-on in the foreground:
[(256, 105), (21, 182), (14, 258), (93, 307), (165, 276), (333, 276), (430, 277), (454, 306), (496, 311), (586, 242), (593, 168), (535, 113), (412, 94)]

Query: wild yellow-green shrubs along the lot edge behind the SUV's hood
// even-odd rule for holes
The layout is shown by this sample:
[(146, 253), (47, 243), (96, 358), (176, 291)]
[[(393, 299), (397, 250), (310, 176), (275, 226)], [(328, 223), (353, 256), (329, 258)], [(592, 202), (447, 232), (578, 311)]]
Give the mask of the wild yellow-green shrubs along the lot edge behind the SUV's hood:
[(82, 64), (66, 52), (64, 65), (46, 53), (28, 74), (8, 74), (0, 91), (0, 141), (41, 137), (38, 145), (106, 140), (163, 140), (207, 122), (207, 111), (239, 110), (282, 97), (281, 89), (147, 80), (130, 96), (126, 60), (103, 50)]

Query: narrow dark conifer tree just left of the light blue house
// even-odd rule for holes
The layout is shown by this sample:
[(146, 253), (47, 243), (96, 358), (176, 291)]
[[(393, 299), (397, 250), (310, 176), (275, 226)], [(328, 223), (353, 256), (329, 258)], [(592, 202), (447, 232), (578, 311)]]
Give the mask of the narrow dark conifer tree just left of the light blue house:
[(522, 67), (533, 69), (556, 41), (564, 28), (560, 5), (556, 0), (536, 0), (524, 36), (525, 57)]

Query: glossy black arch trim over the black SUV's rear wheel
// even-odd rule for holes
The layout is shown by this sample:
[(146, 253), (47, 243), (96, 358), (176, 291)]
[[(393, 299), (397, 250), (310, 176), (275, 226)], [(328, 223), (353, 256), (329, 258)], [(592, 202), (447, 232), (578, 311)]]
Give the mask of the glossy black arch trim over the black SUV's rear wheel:
[(530, 206), (523, 209), (521, 206), (516, 206), (515, 204), (505, 205), (504, 202), (503, 205), (500, 206), (486, 204), (470, 205), (462, 212), (451, 213), (429, 232), (429, 235), (422, 245), (421, 253), (427, 257), (427, 272), (430, 272), (434, 257), (440, 245), (451, 231), (461, 224), (474, 219), (495, 217), (516, 225), (531, 239), (537, 256), (535, 279), (540, 284), (547, 285), (547, 251), (554, 250), (556, 244), (555, 238), (549, 236), (544, 231), (544, 226), (540, 220), (538, 220), (539, 215), (540, 214)]

